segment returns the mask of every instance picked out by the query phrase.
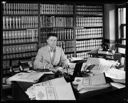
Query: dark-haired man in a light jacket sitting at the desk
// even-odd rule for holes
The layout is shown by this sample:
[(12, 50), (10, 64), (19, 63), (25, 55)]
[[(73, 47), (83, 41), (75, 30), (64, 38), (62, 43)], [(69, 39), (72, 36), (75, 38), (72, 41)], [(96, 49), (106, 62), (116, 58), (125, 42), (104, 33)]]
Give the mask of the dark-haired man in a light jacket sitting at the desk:
[(64, 54), (62, 48), (56, 46), (57, 35), (49, 33), (47, 35), (47, 46), (41, 47), (38, 50), (37, 56), (34, 61), (34, 69), (50, 69), (57, 71), (56, 67), (67, 67), (68, 59)]

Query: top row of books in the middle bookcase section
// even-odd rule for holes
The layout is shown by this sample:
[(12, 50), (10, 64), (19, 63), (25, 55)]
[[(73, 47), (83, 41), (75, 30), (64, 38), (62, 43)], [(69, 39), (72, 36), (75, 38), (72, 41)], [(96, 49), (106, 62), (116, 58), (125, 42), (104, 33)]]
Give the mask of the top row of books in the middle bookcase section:
[(40, 14), (73, 14), (73, 5), (41, 4)]

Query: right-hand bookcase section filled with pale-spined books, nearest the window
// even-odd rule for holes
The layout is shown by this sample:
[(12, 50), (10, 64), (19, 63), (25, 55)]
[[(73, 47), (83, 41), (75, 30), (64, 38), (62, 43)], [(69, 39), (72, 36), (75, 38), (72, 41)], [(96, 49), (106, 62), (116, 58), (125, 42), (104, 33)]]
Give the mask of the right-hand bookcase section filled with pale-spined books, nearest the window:
[(103, 39), (103, 6), (75, 6), (76, 56), (89, 57), (87, 52), (100, 47)]

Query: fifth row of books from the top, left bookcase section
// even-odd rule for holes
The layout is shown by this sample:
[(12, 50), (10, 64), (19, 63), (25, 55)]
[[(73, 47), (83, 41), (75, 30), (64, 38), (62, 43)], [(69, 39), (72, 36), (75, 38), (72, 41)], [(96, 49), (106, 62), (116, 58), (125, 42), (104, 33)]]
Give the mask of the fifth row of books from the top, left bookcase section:
[(19, 59), (19, 58), (27, 58), (27, 57), (34, 57), (36, 56), (37, 51), (33, 52), (26, 52), (26, 53), (15, 53), (15, 54), (8, 54), (3, 55), (3, 60), (9, 60), (9, 59)]

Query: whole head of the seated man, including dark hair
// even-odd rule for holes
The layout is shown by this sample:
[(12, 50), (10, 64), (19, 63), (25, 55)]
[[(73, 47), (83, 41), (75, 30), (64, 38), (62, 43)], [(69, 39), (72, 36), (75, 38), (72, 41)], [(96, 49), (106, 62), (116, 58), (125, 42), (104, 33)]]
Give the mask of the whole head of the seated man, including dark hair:
[(47, 43), (51, 48), (55, 48), (57, 44), (57, 34), (49, 33), (47, 35)]

